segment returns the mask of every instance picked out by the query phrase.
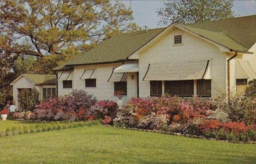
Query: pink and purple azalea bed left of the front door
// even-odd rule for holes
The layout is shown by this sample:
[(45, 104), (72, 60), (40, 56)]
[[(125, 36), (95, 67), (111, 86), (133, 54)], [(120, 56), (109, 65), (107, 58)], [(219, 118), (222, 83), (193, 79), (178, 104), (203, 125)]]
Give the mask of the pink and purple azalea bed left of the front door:
[(105, 124), (113, 123), (117, 113), (117, 103), (99, 101), (85, 91), (74, 90), (72, 93), (42, 101), (33, 112), (16, 112), (14, 118), (37, 121), (78, 121), (101, 119)]

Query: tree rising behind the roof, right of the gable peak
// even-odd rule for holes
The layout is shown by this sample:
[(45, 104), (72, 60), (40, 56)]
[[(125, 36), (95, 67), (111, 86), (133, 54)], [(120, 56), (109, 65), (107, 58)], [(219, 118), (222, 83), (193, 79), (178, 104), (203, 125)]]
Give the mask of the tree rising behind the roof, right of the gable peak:
[(168, 0), (157, 10), (159, 25), (233, 18), (233, 0)]

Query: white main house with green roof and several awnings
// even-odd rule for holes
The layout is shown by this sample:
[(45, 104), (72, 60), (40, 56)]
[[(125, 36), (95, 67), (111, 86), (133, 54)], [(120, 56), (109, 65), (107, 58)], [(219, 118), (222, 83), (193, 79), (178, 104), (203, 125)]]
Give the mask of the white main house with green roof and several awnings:
[(54, 69), (57, 94), (98, 100), (243, 94), (256, 78), (256, 15), (117, 34)]

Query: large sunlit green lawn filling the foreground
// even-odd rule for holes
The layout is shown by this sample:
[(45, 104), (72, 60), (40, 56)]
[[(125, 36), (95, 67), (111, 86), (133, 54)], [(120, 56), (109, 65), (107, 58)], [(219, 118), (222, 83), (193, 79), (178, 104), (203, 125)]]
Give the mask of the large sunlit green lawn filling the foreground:
[(0, 163), (254, 163), (233, 144), (95, 125), (0, 138)]

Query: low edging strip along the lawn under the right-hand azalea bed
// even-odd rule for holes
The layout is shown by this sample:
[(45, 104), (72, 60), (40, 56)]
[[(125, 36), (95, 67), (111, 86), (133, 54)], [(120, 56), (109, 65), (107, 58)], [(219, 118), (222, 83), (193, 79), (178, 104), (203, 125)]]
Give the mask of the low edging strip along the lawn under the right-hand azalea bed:
[(160, 133), (160, 134), (168, 134), (168, 135), (176, 135), (176, 136), (183, 136), (183, 137), (188, 137), (188, 138), (195, 138), (195, 139), (205, 139), (205, 140), (211, 140), (211, 141), (221, 141), (221, 142), (227, 142), (227, 143), (253, 143), (256, 144), (256, 141), (251, 141), (251, 142), (230, 142), (228, 140), (217, 140), (216, 138), (207, 138), (204, 135), (191, 135), (191, 134), (181, 134), (181, 133), (174, 133), (174, 132), (166, 132), (166, 131), (159, 131), (159, 130), (148, 130), (148, 129), (140, 129), (140, 128), (128, 128), (128, 127), (117, 127), (117, 126), (111, 126), (111, 125), (103, 125), (105, 127), (114, 127), (114, 128), (121, 128), (121, 129), (126, 129), (126, 130), (136, 130), (136, 131), (141, 131), (141, 132), (155, 132), (155, 133)]

